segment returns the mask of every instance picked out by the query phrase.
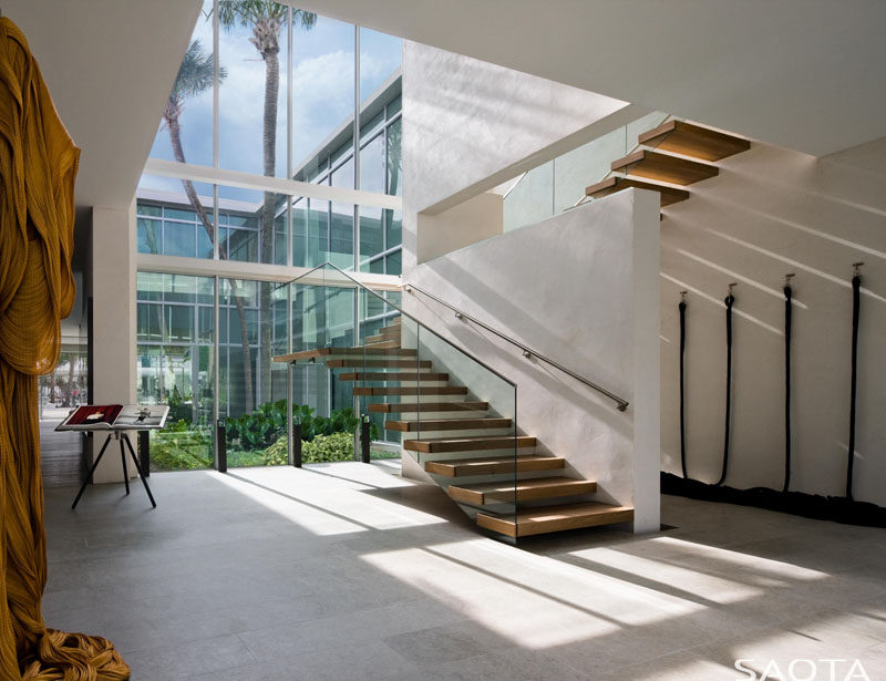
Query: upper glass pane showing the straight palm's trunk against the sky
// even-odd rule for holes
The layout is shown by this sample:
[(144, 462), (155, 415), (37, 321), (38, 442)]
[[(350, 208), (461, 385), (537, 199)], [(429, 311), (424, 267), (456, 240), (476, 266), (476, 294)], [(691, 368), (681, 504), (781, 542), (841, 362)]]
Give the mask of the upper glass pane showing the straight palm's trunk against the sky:
[[(295, 12), (302, 16), (300, 10)], [(223, 28), (219, 64), (225, 70), (218, 89), (219, 166), (285, 177), (287, 7), (277, 2), (222, 1), (218, 17)], [(303, 30), (297, 21), (297, 35)]]

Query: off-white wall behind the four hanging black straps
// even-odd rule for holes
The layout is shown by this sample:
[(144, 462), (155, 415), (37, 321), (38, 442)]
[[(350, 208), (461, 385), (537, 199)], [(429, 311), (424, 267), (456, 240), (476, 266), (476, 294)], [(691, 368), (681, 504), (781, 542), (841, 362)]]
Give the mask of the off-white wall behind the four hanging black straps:
[(689, 290), (690, 476), (723, 448), (727, 283), (735, 289), (733, 437), (727, 484), (781, 489), (784, 302), (793, 308), (792, 489), (842, 495), (849, 409), (852, 264), (862, 268), (855, 498), (886, 505), (886, 140), (816, 159), (754, 144), (690, 187), (661, 223), (662, 466), (680, 471), (678, 292)]

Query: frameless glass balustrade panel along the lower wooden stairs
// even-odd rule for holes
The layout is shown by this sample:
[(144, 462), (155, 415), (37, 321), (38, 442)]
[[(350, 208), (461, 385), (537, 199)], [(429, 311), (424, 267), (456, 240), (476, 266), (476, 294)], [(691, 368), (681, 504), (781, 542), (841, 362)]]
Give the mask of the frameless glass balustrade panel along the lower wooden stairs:
[[(302, 461), (362, 458), (362, 444), (358, 438), (360, 446), (353, 447), (351, 430), (365, 419), (370, 457), (396, 456), (396, 447), (384, 443), (402, 437), (405, 451), (421, 465), (498, 460), (482, 476), (457, 477), (460, 484), (497, 485), (487, 503), (462, 507), (472, 517), (482, 512), (513, 520), (518, 454), (515, 385), (404, 318), (395, 307), (401, 302), (399, 292), (370, 291), (331, 266), (291, 281), (290, 287), (292, 343), (300, 353), (292, 367), (293, 416), (300, 421)], [(496, 421), (476, 423), (486, 419)], [(453, 420), (463, 423), (453, 427)], [(323, 429), (334, 437), (324, 436)], [(463, 441), (475, 437), (484, 440), (464, 451)], [(433, 453), (426, 444), (452, 438), (462, 442), (451, 447), (437, 443)], [(456, 482), (446, 468), (425, 470), (444, 488)]]

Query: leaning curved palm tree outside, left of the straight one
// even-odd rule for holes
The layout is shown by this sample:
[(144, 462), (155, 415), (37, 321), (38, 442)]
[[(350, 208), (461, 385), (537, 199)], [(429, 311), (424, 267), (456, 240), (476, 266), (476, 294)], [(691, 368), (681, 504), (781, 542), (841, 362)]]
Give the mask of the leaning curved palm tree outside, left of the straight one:
[[(169, 131), (169, 142), (173, 146), (173, 155), (178, 163), (185, 163), (185, 151), (182, 147), (182, 126), (178, 118), (184, 111), (184, 103), (187, 97), (196, 96), (213, 86), (213, 72), (215, 69), (215, 59), (212, 54), (204, 54), (199, 40), (194, 40), (187, 47), (185, 56), (182, 60), (182, 65), (178, 68), (178, 73), (175, 76), (169, 99), (166, 101), (166, 107), (163, 111), (163, 124)], [(218, 81), (222, 82), (227, 72), (224, 69), (218, 70)], [(185, 189), (190, 206), (199, 217), (209, 241), (215, 244), (216, 230), (215, 225), (209, 220), (206, 215), (206, 209), (194, 189), (194, 183), (189, 179), (183, 179), (182, 186)], [(224, 244), (218, 244), (218, 257), (227, 259), (227, 249)], [(230, 296), (234, 298), (234, 305), (237, 308), (237, 316), (240, 322), (240, 342), (243, 344), (243, 373), (245, 385), (246, 411), (254, 409), (253, 398), (253, 362), (249, 350), (249, 334), (246, 326), (246, 308), (243, 298), (239, 295), (239, 287), (236, 279), (228, 279), (230, 283)]]

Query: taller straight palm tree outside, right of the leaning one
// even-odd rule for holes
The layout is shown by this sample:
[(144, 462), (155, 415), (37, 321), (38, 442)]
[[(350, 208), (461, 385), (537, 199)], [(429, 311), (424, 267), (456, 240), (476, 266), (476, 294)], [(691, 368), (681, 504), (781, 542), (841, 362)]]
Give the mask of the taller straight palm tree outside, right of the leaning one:
[[(277, 167), (277, 100), (280, 92), (280, 30), (287, 22), (288, 6), (271, 0), (219, 0), (218, 22), (226, 30), (235, 25), (251, 27), (249, 42), (255, 45), (265, 61), (265, 116), (261, 131), (264, 173), (274, 177)], [(310, 31), (317, 23), (317, 14), (292, 8), (292, 23)], [(270, 261), (274, 244), (274, 221), (276, 197), (274, 192), (265, 192), (261, 209), (261, 252), (262, 260)], [(271, 296), (270, 287), (262, 286), (260, 295), (261, 331), (259, 347), (261, 402), (269, 402), (271, 368)]]

